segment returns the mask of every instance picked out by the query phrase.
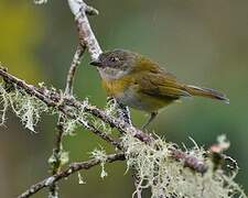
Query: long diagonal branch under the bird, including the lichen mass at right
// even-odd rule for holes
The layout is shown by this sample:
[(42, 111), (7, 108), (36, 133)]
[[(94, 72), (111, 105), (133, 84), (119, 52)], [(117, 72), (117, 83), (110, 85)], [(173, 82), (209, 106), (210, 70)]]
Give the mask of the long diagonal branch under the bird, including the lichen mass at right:
[[(143, 133), (139, 129), (123, 122), (123, 120), (95, 106), (90, 106), (87, 101), (79, 101), (73, 97), (62, 97), (57, 91), (50, 90), (44, 86), (36, 88), (32, 85), (28, 85), (23, 80), (10, 75), (4, 69), (0, 69), (0, 76), (7, 84), (15, 87), (14, 90), (8, 91), (21, 90), (21, 92), (25, 92), (37, 101), (45, 103), (53, 113), (63, 113), (65, 117), (75, 120), (78, 124), (82, 124), (114, 146), (123, 151), (128, 167), (136, 167), (138, 170), (138, 176), (141, 179), (138, 185), (139, 189), (150, 187), (154, 196), (159, 194), (171, 195), (172, 193), (176, 195), (192, 195), (190, 194), (192, 191), (187, 190), (190, 188), (193, 190), (194, 185), (196, 185), (204, 194), (214, 195), (213, 191), (205, 190), (207, 188), (204, 187), (214, 185), (216, 190), (222, 190), (223, 194), (226, 193), (227, 197), (236, 193), (245, 197), (242, 190), (233, 180), (236, 170), (233, 172), (234, 175), (228, 176), (222, 168), (214, 168), (216, 165), (214, 161), (212, 161), (211, 153), (213, 152), (208, 153), (198, 147), (182, 152), (176, 148), (173, 143), (168, 143), (159, 136)], [(3, 86), (2, 88), (4, 89)], [(121, 132), (121, 141), (117, 141), (112, 139), (110, 134), (97, 129), (93, 122), (90, 122), (90, 120), (94, 120), (93, 117), (100, 119), (104, 123)], [(158, 177), (160, 177), (160, 179)], [(182, 182), (182, 187), (179, 188), (179, 184)], [(188, 189), (183, 188), (185, 185), (188, 185)], [(164, 186), (170, 186), (170, 188)], [(197, 190), (200, 190), (198, 188)]]

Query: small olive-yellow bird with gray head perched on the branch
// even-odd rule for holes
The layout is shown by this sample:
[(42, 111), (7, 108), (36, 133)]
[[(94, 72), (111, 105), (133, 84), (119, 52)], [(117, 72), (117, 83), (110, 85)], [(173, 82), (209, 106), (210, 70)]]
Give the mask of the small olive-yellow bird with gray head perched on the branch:
[(145, 128), (158, 111), (182, 97), (200, 96), (223, 100), (228, 99), (214, 89), (186, 85), (174, 75), (161, 68), (158, 63), (134, 52), (114, 50), (99, 55), (90, 65), (97, 66), (103, 86), (109, 97), (125, 106), (150, 113)]

